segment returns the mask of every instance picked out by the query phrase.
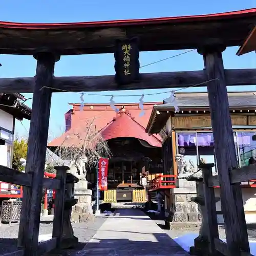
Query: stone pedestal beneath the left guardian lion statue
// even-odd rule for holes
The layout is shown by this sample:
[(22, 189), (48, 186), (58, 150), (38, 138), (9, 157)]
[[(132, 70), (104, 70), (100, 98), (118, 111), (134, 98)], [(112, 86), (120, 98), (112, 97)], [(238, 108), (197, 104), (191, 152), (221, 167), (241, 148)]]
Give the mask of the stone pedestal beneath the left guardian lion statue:
[(75, 199), (77, 204), (73, 206), (71, 221), (76, 223), (89, 222), (94, 220), (92, 202), (92, 190), (87, 189), (88, 182), (79, 180), (75, 184)]

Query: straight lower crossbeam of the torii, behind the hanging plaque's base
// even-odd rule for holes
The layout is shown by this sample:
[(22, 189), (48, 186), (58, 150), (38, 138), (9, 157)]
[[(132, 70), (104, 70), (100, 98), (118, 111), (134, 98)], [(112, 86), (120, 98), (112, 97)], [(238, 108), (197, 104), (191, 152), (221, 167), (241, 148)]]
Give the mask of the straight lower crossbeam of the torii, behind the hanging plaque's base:
[[(225, 70), (227, 86), (244, 86), (256, 84), (255, 69), (230, 69)], [(114, 75), (108, 76), (77, 76), (54, 77), (51, 87), (72, 92), (82, 91), (119, 91), (138, 89), (161, 89), (189, 87), (200, 84), (204, 87), (207, 80), (204, 70), (183, 72), (145, 73), (140, 75), (140, 81), (125, 86), (119, 86), (115, 82)], [(35, 86), (34, 77), (1, 78), (1, 93), (32, 93)], [(61, 92), (56, 90), (55, 92)]]

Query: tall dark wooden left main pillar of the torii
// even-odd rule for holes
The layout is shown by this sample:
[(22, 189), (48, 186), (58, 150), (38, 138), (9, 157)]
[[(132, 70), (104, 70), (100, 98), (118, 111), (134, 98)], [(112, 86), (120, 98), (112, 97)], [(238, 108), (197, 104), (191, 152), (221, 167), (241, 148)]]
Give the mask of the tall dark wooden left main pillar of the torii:
[(37, 59), (35, 88), (29, 129), (26, 173), (32, 175), (32, 186), (24, 187), (20, 216), (18, 247), (26, 248), (26, 256), (37, 255), (42, 180), (44, 178), (46, 146), (51, 108), (51, 87), (56, 56), (41, 52)]

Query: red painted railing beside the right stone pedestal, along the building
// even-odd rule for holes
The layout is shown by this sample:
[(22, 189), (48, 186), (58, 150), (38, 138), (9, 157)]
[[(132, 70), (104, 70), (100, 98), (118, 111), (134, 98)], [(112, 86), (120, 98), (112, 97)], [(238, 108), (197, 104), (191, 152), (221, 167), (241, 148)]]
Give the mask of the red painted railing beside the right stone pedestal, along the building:
[(160, 174), (150, 181), (150, 191), (176, 187), (176, 175)]

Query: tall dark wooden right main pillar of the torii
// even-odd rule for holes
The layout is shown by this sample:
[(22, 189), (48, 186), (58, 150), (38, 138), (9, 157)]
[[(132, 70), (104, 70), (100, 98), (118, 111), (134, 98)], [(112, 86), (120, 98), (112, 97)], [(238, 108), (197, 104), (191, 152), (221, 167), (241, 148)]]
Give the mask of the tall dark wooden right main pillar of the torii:
[(240, 255), (240, 249), (249, 252), (249, 243), (241, 186), (240, 183), (231, 185), (229, 178), (229, 172), (236, 168), (238, 163), (222, 60), (222, 51), (224, 50), (225, 47), (214, 46), (202, 48), (198, 52), (204, 57), (207, 80), (217, 78), (217, 80), (207, 83), (207, 91), (227, 245), (230, 255), (235, 256)]

